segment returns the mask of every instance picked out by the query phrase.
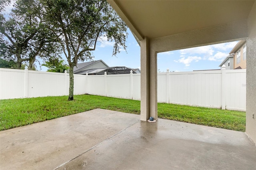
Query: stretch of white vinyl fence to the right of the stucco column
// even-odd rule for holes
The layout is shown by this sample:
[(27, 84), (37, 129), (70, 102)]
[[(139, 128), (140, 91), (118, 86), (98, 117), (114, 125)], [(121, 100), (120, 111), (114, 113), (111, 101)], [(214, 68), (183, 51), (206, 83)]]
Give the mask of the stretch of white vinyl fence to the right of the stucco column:
[(246, 69), (158, 73), (158, 102), (246, 111)]

